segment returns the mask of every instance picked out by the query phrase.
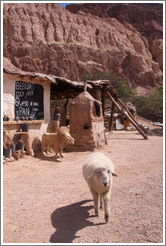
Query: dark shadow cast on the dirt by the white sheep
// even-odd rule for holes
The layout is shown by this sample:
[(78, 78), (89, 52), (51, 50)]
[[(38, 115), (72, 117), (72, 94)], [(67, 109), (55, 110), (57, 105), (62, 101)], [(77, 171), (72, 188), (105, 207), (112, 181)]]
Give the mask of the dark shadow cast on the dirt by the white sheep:
[(94, 224), (88, 220), (93, 217), (89, 216), (88, 212), (93, 206), (83, 205), (90, 201), (84, 200), (58, 208), (51, 214), (51, 223), (56, 229), (55, 233), (50, 237), (51, 243), (72, 243), (77, 237), (76, 233), (84, 227), (105, 224)]

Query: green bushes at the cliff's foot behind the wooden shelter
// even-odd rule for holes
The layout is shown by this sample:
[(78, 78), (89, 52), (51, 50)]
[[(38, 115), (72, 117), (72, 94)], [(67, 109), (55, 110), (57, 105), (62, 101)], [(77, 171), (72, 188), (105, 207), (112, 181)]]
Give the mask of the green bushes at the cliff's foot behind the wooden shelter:
[[(163, 86), (149, 96), (138, 96), (134, 88), (119, 76), (101, 71), (86, 74), (83, 80), (109, 80), (123, 102), (130, 101), (136, 108), (138, 115), (153, 121), (163, 121)], [(108, 105), (108, 100), (106, 100)]]

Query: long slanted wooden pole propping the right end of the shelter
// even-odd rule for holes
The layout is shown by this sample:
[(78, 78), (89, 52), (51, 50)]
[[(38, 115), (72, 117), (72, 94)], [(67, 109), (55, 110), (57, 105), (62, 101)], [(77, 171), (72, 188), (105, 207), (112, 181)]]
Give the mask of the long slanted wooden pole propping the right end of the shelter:
[(111, 101), (115, 104), (115, 106), (118, 108), (118, 110), (124, 115), (126, 116), (131, 123), (133, 124), (133, 126), (135, 126), (135, 128), (138, 130), (138, 132), (144, 137), (144, 139), (148, 139), (147, 135), (144, 133), (144, 131), (142, 131), (142, 129), (139, 127), (138, 123), (136, 123), (127, 113), (127, 111), (124, 111), (121, 109), (121, 107), (119, 106), (119, 104), (115, 101), (115, 99), (111, 96), (111, 94), (107, 91), (107, 94), (109, 96), (109, 98), (111, 99)]

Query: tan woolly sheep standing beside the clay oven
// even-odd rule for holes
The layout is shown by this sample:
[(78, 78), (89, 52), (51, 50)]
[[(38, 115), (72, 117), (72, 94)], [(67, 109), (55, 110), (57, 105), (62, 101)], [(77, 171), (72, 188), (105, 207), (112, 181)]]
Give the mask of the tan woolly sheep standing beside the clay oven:
[(69, 145), (74, 144), (74, 138), (71, 137), (69, 129), (65, 126), (62, 126), (58, 129), (56, 133), (44, 133), (42, 136), (42, 154), (44, 151), (49, 150), (52, 146), (55, 151), (55, 156), (60, 153), (60, 156), (63, 157), (63, 149)]

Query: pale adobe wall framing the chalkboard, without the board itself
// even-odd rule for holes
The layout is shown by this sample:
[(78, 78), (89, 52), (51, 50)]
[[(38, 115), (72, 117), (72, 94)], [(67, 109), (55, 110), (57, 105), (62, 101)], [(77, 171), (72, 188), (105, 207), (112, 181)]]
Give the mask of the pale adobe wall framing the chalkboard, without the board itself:
[(39, 148), (39, 142), (42, 134), (47, 131), (48, 123), (50, 121), (50, 83), (35, 81), (36, 84), (40, 84), (44, 89), (44, 119), (35, 121), (15, 121), (15, 82), (23, 81), (30, 82), (28, 78), (20, 78), (16, 75), (4, 74), (3, 76), (3, 113), (9, 116), (9, 121), (3, 121), (3, 127), (6, 128), (11, 137), (14, 136), (15, 132), (20, 131), (21, 124), (29, 124), (29, 134), (31, 144), (34, 149)]

